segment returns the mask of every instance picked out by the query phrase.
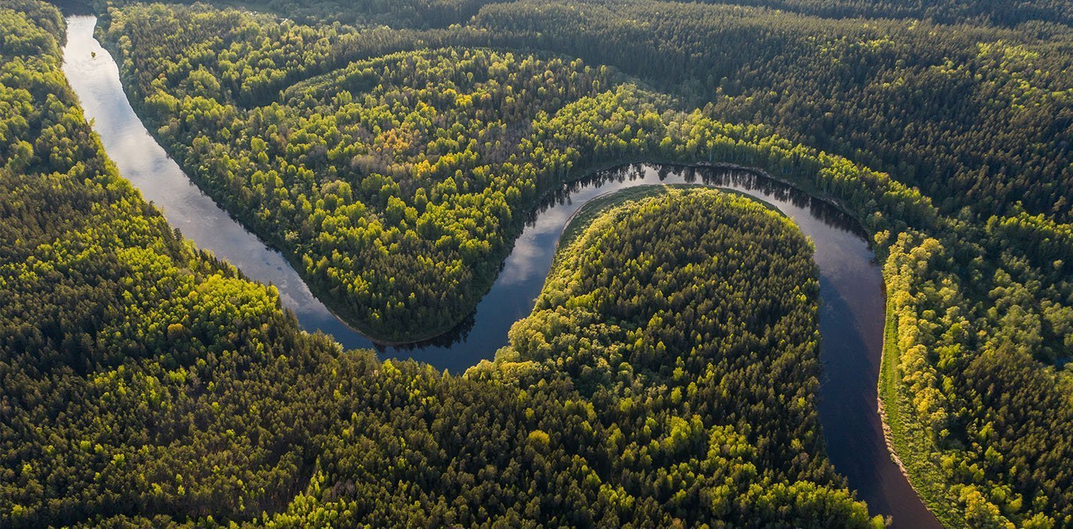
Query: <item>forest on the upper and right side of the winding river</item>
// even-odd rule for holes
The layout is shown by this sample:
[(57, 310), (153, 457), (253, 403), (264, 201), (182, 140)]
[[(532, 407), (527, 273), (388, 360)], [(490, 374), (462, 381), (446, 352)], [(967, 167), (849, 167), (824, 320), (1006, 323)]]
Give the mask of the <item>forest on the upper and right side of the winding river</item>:
[[(310, 245), (332, 243), (371, 244), (393, 253), (435, 239), (458, 252), (460, 277), (477, 282), (446, 294), (444, 302), (461, 299), (455, 305), (416, 309), (408, 305), (409, 291), (392, 288), (392, 275), (382, 276), (386, 282), (351, 283), (369, 289), (357, 295), (380, 302), (363, 323), (388, 334), (405, 333), (418, 310), (437, 322), (457, 321), (460, 313), (452, 311), (486, 288), (480, 284), (482, 263), (501, 259), (499, 248), (512, 240), (531, 201), (587, 167), (637, 158), (733, 162), (837, 201), (874, 235), (885, 264), (893, 362), (883, 394), (895, 445), (928, 505), (950, 525), (1073, 524), (1073, 475), (1061, 462), (1073, 452), (1073, 415), (1065, 406), (1073, 381), (1060, 368), (1073, 356), (1073, 229), (1063, 223), (1073, 189), (1068, 29), (605, 3), (490, 4), (450, 28), (354, 29), (410, 34), (432, 49), (400, 45), (393, 53), (380, 45), (381, 58), (361, 50), (349, 65), (252, 104), (223, 84), (196, 83), (225, 78), (234, 68), (227, 49), (252, 46), (242, 35), (222, 41), (199, 29), (200, 18), (211, 17), (203, 13), (217, 13), (211, 8), (114, 8), (107, 39), (136, 87), (135, 101), (144, 101), (143, 112), (194, 178), (242, 175), (234, 189), (209, 189), (224, 202), (236, 193), (253, 197), (237, 205), (249, 224), (260, 225), (256, 211), (278, 209), (265, 204), (298, 196), (311, 204), (312, 218), (327, 221), (291, 239), (285, 230), (258, 227), (282, 239), (285, 251), (319, 251)], [(248, 25), (245, 35), (346, 31), (222, 13)], [(183, 39), (191, 43), (158, 45), (170, 33), (153, 27), (171, 19), (185, 21)], [(458, 73), (437, 64), (445, 56), (503, 59), (499, 67), (489, 61), (486, 71), (474, 65)], [(570, 67), (544, 74), (560, 92), (542, 97), (541, 88), (547, 93), (552, 87), (534, 79), (536, 61)], [(452, 73), (429, 79), (409, 63)], [(275, 61), (256, 67), (296, 68)], [(503, 114), (481, 114), (474, 101), (485, 93), (501, 98), (494, 101)], [(382, 121), (366, 117), (374, 107), (385, 108)], [(200, 138), (183, 139), (190, 134), (185, 122), (196, 123)], [(489, 130), (482, 127), (487, 122), (505, 124), (494, 134), (499, 148), (459, 134)], [(431, 136), (427, 123), (435, 124)], [(252, 153), (260, 142), (244, 144), (254, 143), (248, 131), (268, 132), (262, 132), (264, 157)], [(351, 146), (358, 149), (354, 157), (338, 156)], [(422, 150), (429, 156), (413, 158)], [(283, 164), (298, 160), (302, 165), (288, 174)], [(278, 179), (268, 185), (273, 171)], [(383, 196), (373, 196), (385, 185)], [(502, 202), (489, 196), (505, 207), (477, 206), (485, 192), (502, 193)], [(453, 204), (459, 209), (454, 218), (464, 219), (455, 238), (444, 236), (442, 224), (417, 227), (442, 204)], [(473, 205), (468, 219), (467, 204)], [(369, 218), (355, 219), (354, 211)], [(357, 237), (370, 237), (370, 225), (379, 244)], [(340, 243), (348, 240), (352, 243)], [(327, 270), (349, 266), (373, 277), (369, 265), (376, 261), (348, 262), (351, 254), (314, 254), (305, 262), (306, 274), (322, 289), (350, 294), (346, 281), (325, 285), (318, 274), (341, 278)], [(411, 259), (415, 268), (435, 268), (420, 253)], [(372, 313), (381, 324), (371, 323)]]

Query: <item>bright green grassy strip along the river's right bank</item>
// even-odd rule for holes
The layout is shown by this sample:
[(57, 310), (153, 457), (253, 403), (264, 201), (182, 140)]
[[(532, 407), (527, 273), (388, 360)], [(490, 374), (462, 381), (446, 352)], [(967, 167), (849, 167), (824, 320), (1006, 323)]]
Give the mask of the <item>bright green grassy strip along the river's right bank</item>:
[(887, 447), (939, 523), (949, 528), (967, 528), (960, 509), (944, 486), (947, 481), (938, 460), (939, 449), (927, 428), (916, 420), (909, 387), (899, 372), (898, 321), (893, 309), (893, 302), (887, 298), (879, 370), (880, 415)]

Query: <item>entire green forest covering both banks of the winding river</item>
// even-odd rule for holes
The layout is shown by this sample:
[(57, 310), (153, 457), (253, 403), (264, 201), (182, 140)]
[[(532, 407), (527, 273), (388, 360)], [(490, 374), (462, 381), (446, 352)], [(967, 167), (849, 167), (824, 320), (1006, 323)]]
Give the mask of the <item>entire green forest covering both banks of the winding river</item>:
[[(58, 12), (2, 5), (12, 525), (872, 523), (814, 435), (815, 292), (785, 297), (814, 270), (770, 214), (700, 192), (608, 211), (464, 377), (342, 353), (138, 199), (65, 87)], [(872, 237), (881, 394), (931, 511), (1073, 526), (1067, 2), (355, 5), (97, 5), (161, 143), (348, 320), (451, 327), (535, 201), (592, 167), (760, 167)], [(727, 239), (681, 241), (705, 230)], [(738, 243), (797, 282), (699, 256)]]

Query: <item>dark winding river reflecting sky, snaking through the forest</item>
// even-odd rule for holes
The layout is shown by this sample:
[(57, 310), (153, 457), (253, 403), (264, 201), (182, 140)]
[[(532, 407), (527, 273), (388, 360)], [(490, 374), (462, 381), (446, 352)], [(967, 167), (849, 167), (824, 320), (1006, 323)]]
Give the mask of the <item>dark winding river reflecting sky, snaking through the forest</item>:
[(822, 379), (819, 411), (827, 452), (869, 508), (895, 527), (940, 527), (891, 461), (877, 413), (884, 296), (879, 267), (855, 222), (827, 203), (751, 172), (653, 164), (624, 165), (564, 186), (531, 215), (491, 290), (455, 332), (429, 342), (383, 347), (336, 319), (288, 261), (204, 194), (149, 135), (134, 114), (116, 62), (93, 39), (97, 19), (68, 17), (63, 71), (120, 174), (201, 248), (246, 276), (279, 289), (303, 327), (333, 335), (346, 348), (376, 348), (460, 372), (506, 343), (511, 324), (529, 314), (571, 216), (589, 200), (634, 186), (706, 183), (773, 204), (815, 244), (820, 268)]

